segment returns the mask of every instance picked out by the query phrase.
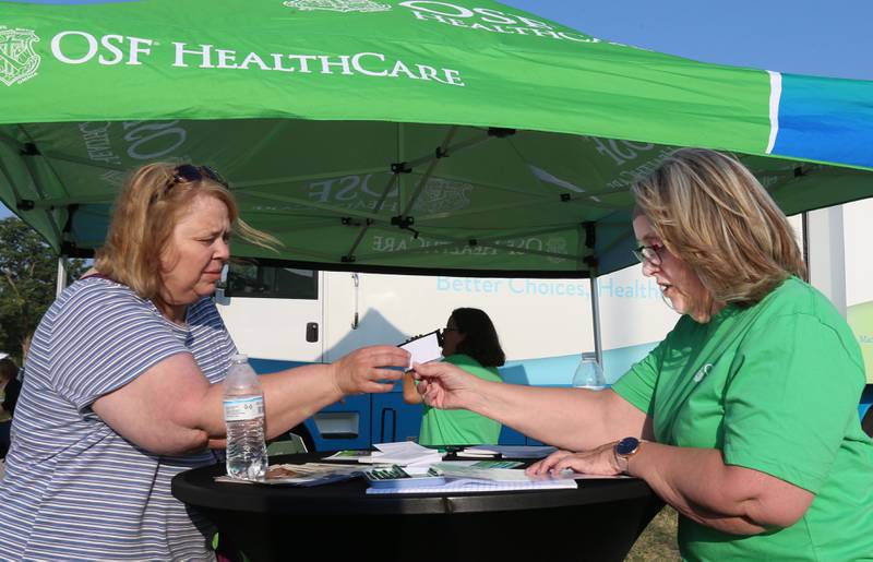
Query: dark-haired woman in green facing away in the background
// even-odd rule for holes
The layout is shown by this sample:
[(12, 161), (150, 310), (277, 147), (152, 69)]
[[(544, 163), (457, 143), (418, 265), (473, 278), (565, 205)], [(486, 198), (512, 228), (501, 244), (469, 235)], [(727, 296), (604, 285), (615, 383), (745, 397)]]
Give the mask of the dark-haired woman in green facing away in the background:
[[(444, 361), (457, 366), (473, 376), (500, 383), (497, 368), (506, 357), (500, 347), (494, 324), (483, 311), (455, 309), (442, 331)], [(407, 404), (421, 404), (411, 373), (403, 381), (403, 397)], [(422, 445), (497, 444), (501, 423), (469, 410), (441, 410), (424, 405), (418, 442)]]

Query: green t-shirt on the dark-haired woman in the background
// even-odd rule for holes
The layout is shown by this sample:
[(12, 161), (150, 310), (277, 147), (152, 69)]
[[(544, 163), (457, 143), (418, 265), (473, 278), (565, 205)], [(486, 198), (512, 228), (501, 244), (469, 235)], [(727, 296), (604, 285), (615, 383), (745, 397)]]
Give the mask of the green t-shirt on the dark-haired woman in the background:
[[(498, 370), (482, 367), (464, 354), (444, 359), (486, 381), (502, 382)], [(500, 422), (470, 410), (441, 410), (424, 405), (418, 442), (422, 445), (493, 445), (500, 439)]]

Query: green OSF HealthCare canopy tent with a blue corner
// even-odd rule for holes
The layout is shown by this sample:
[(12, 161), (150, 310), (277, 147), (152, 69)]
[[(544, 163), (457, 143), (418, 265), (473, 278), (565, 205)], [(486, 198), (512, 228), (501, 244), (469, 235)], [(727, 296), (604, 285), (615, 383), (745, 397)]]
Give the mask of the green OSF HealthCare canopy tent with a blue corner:
[(873, 83), (705, 64), (489, 0), (0, 1), (0, 200), (103, 241), (125, 174), (218, 169), (322, 270), (588, 277), (633, 258), (629, 187), (736, 153), (788, 213), (873, 194)]

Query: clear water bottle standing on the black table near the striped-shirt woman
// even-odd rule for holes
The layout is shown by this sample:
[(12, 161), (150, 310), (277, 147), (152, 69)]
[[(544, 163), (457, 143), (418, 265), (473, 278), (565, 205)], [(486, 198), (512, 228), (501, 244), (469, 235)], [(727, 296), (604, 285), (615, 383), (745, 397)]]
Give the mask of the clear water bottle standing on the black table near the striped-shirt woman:
[(225, 379), (227, 475), (242, 480), (263, 480), (267, 457), (264, 443), (264, 392), (244, 355), (230, 358)]

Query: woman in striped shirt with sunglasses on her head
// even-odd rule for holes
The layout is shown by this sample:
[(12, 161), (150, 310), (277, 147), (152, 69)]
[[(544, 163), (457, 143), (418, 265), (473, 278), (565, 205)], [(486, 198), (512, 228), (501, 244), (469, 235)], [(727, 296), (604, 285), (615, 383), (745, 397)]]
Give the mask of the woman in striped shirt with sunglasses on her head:
[[(170, 480), (225, 447), (220, 383), (237, 349), (210, 297), (231, 234), (275, 243), (238, 215), (205, 166), (150, 164), (127, 181), (94, 270), (33, 337), (0, 482), (4, 560), (215, 558), (213, 529)], [(408, 361), (378, 346), (262, 375), (267, 438), (390, 391)]]

